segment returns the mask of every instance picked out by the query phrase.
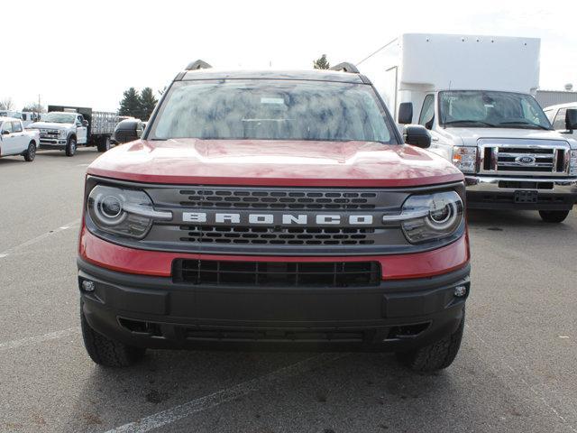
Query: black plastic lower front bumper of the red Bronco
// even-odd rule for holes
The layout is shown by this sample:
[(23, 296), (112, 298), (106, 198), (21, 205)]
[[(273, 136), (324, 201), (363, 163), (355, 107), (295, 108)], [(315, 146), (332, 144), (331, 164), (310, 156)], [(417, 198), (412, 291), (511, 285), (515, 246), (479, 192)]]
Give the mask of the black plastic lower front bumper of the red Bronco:
[[(310, 350), (408, 350), (459, 326), (469, 266), (371, 287), (201, 286), (78, 261), (83, 313), (97, 332), (151, 348), (258, 345)], [(82, 281), (94, 281), (94, 291)], [(465, 286), (464, 297), (455, 297)]]

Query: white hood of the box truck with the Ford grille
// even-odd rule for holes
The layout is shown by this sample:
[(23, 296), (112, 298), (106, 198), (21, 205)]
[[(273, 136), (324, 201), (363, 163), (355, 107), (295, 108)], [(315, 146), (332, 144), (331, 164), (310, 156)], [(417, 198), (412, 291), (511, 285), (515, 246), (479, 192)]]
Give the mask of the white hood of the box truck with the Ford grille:
[(569, 142), (569, 138), (556, 131), (541, 129), (521, 128), (440, 128), (439, 134), (456, 141), (462, 141), (464, 145), (476, 146), (480, 138), (508, 138), (519, 140), (556, 140)]

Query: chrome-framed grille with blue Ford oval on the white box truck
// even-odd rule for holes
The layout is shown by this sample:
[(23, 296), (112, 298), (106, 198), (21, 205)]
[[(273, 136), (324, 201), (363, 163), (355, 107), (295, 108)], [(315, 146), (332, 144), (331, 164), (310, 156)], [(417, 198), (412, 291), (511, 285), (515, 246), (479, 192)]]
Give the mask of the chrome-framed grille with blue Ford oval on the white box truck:
[[(480, 140), (480, 173), (527, 176), (567, 176), (570, 148), (568, 143), (527, 140), (519, 146), (508, 140)], [(497, 143), (496, 143), (497, 142)], [(513, 142), (513, 141), (510, 141)]]

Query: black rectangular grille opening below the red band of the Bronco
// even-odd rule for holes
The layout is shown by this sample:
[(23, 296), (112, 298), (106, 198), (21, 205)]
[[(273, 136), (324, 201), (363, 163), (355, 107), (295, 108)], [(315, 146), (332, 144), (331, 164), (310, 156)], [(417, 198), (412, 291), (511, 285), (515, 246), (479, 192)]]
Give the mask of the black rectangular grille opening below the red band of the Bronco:
[(377, 286), (378, 262), (225, 262), (178, 259), (174, 282), (217, 286)]

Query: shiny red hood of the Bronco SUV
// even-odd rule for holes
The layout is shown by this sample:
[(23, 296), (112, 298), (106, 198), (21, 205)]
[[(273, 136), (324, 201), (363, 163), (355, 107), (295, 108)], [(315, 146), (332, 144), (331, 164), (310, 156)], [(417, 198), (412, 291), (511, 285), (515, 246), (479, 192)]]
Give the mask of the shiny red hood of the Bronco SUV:
[(417, 147), (372, 142), (136, 141), (105, 152), (88, 174), (206, 185), (408, 187), (463, 180)]

